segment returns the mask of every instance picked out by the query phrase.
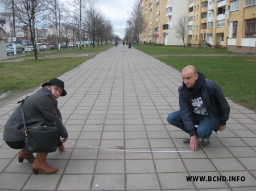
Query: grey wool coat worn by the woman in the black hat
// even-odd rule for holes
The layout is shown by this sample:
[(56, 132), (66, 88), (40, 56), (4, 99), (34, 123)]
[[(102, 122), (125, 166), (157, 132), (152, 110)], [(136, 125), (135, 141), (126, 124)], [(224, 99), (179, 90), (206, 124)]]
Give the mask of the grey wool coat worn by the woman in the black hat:
[[(27, 128), (51, 121), (56, 123), (56, 128), (59, 129), (59, 135), (62, 138), (68, 137), (60, 111), (57, 109), (57, 100), (53, 99), (51, 91), (46, 87), (40, 88), (35, 94), (27, 97), (23, 107)], [(3, 140), (7, 142), (22, 141), (25, 139), (23, 130), (20, 103), (6, 122), (3, 129)]]

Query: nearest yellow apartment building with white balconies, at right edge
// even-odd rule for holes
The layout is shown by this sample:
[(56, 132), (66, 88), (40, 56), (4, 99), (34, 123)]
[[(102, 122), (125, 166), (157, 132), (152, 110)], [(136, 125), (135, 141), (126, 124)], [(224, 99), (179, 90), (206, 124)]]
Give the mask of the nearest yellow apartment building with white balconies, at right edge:
[(188, 46), (256, 53), (255, 0), (187, 0)]

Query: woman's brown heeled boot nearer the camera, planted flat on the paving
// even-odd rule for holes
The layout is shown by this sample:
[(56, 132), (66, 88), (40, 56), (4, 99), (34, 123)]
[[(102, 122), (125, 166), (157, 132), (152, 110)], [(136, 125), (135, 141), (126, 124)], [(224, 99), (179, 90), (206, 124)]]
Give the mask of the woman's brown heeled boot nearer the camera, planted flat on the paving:
[(35, 175), (38, 175), (38, 171), (42, 171), (47, 174), (53, 174), (58, 171), (56, 167), (50, 167), (46, 162), (46, 157), (48, 152), (38, 152), (34, 163), (32, 164), (33, 172)]

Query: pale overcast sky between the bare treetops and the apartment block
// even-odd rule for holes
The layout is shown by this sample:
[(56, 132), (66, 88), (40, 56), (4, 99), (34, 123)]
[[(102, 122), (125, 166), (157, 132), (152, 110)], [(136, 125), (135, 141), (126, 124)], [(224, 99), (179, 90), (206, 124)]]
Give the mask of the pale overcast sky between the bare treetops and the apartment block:
[(134, 2), (138, 2), (138, 0), (98, 0), (98, 7), (102, 10), (103, 15), (112, 22), (114, 33), (121, 39), (125, 36), (126, 21)]

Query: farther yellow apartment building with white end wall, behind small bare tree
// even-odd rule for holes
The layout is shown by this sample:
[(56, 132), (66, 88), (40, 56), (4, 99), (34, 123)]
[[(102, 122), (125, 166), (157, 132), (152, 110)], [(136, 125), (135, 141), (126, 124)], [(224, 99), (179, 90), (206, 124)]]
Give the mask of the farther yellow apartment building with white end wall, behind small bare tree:
[(145, 43), (183, 45), (172, 29), (177, 19), (186, 14), (186, 0), (141, 0), (141, 11), (146, 28), (140, 41)]

